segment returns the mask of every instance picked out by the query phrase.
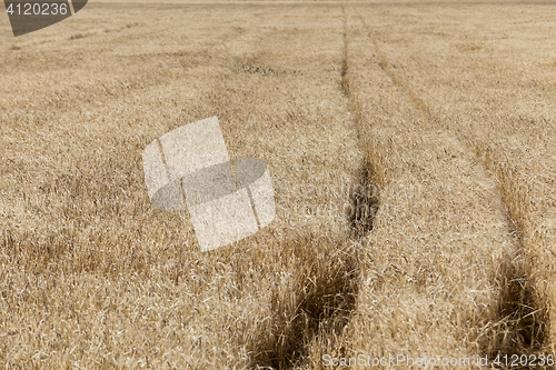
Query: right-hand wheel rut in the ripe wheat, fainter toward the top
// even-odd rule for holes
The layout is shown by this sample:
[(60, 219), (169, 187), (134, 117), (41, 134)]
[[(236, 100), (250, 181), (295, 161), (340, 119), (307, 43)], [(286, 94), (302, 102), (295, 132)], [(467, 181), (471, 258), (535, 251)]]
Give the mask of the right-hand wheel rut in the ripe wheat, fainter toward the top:
[[(475, 157), (474, 182), (481, 189), (483, 196), (488, 199), (493, 212), (498, 214), (496, 222), (504, 223), (505, 229), (513, 236), (514, 252), (499, 262), (497, 276), (493, 277), (504, 282), (498, 298), (498, 309), (495, 318), (487, 323), (490, 340), (479, 341), (481, 354), (496, 358), (500, 354), (535, 354), (546, 347), (547, 318), (534, 299), (532, 281), (528, 278), (527, 266), (524, 258), (524, 230), (518, 222), (510, 217), (508, 202), (512, 197), (504, 193), (500, 183), (503, 173), (492, 174), (489, 164), (483, 157), (479, 148), (474, 148), (461, 133), (449, 129), (447, 122), (435, 113), (426, 101), (411, 88), (410, 83), (391, 68), (391, 64), (381, 50), (378, 33), (367, 24), (365, 18), (353, 9), (357, 14), (363, 29), (371, 40), (377, 53), (380, 70), (391, 80), (391, 83), (405, 94), (413, 106), (420, 111), (431, 128), (444, 131), (450, 139), (454, 148), (459, 152)], [(347, 88), (349, 89), (349, 87)], [(492, 167), (492, 166), (490, 166)]]

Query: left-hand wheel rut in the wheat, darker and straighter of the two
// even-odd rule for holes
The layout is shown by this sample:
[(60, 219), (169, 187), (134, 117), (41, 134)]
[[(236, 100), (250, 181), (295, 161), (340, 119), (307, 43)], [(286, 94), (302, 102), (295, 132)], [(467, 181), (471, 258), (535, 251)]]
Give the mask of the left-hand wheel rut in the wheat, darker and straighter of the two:
[[(345, 22), (346, 18), (346, 31)], [(342, 39), (339, 90), (348, 100), (346, 32)], [(349, 110), (348, 101), (346, 103), (353, 121), (349, 129), (355, 131), (360, 143), (354, 112)], [(324, 354), (348, 356), (349, 321), (359, 293), (360, 243), (373, 230), (379, 207), (375, 173), (367, 157), (363, 156), (354, 183), (347, 188), (346, 234), (340, 238), (296, 236), (280, 242), (282, 256), (296, 256), (291, 260), (298, 263), (294, 268), (298, 283), (291, 292), (292, 301), (280, 301), (280, 297), (272, 299), (272, 312), (279, 312), (272, 323), (276, 334), (254, 349), (254, 368), (320, 367)]]

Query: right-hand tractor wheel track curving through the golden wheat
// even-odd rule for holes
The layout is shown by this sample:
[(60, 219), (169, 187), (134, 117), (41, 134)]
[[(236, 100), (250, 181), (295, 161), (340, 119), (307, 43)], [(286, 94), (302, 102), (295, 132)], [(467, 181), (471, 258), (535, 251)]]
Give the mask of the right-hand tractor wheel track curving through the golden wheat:
[[(399, 73), (396, 73), (390, 68), (390, 62), (384, 51), (381, 51), (377, 41), (376, 32), (367, 24), (364, 17), (358, 13), (360, 22), (367, 30), (368, 37), (373, 40), (375, 49), (379, 58), (379, 67), (387, 74), (394, 84), (398, 87), (414, 103), (427, 121), (436, 124), (439, 129), (449, 130), (449, 124), (435, 114), (434, 110), (419, 97), (419, 94), (410, 87), (406, 79)], [(475, 153), (477, 164), (474, 166), (476, 182), (484, 189), (485, 194), (489, 199), (493, 209), (496, 210), (503, 218), (506, 228), (516, 233), (515, 239), (515, 256), (513, 260), (508, 260), (507, 276), (502, 279), (508, 282), (507, 290), (500, 297), (500, 309), (498, 330), (500, 336), (495, 347), (485, 348), (485, 351), (494, 357), (498, 353), (533, 353), (536, 350), (544, 348), (546, 341), (546, 318), (542, 318), (538, 304), (534, 301), (534, 291), (532, 282), (527, 277), (527, 267), (524, 266), (524, 228), (516, 218), (512, 217), (512, 211), (506, 207), (508, 200), (505, 198), (512, 197), (506, 194), (500, 186), (503, 183), (500, 173), (494, 178), (486, 159), (480, 156), (479, 148), (473, 148), (465, 142), (465, 138), (458, 138), (457, 133), (453, 134), (456, 138), (455, 143), (460, 150), (468, 153)], [(524, 348), (526, 346), (527, 348)]]

